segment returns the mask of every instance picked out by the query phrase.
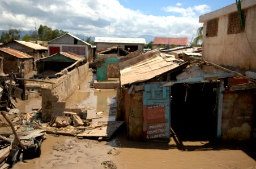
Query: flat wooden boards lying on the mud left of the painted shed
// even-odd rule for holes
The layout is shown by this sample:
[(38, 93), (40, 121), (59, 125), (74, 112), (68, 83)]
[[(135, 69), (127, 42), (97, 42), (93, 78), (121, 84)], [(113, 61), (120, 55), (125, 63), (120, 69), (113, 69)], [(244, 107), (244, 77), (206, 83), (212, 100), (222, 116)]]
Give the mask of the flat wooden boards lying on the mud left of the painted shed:
[(100, 124), (103, 124), (101, 127), (97, 127), (91, 130), (85, 130), (82, 134), (78, 134), (78, 137), (103, 137), (103, 139), (109, 139), (114, 132), (123, 124), (123, 121), (118, 122), (95, 122), (94, 125), (100, 126)]

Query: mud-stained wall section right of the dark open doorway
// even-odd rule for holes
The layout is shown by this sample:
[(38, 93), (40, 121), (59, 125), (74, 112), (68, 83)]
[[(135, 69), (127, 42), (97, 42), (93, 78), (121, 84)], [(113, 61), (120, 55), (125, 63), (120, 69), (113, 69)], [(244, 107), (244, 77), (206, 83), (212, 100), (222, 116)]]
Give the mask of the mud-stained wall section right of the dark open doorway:
[(224, 91), (223, 140), (249, 140), (254, 112), (254, 91)]

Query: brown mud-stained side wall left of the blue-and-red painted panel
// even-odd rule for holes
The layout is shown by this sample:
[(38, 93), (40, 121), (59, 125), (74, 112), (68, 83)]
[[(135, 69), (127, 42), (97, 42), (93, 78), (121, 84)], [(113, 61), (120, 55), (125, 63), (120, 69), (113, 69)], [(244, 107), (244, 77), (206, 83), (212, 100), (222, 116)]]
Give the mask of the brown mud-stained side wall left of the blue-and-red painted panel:
[(131, 140), (143, 140), (143, 92), (128, 94), (125, 90), (125, 121), (128, 137)]

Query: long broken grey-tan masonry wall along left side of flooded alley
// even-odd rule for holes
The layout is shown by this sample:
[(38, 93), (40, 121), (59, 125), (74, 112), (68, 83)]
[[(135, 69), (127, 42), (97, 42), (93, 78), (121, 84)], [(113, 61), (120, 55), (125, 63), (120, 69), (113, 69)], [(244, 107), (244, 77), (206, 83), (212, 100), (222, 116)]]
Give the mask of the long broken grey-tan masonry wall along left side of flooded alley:
[(42, 119), (51, 118), (66, 111), (65, 100), (78, 88), (88, 75), (89, 64), (86, 63), (72, 70), (56, 80), (56, 84), (49, 84), (41, 89)]

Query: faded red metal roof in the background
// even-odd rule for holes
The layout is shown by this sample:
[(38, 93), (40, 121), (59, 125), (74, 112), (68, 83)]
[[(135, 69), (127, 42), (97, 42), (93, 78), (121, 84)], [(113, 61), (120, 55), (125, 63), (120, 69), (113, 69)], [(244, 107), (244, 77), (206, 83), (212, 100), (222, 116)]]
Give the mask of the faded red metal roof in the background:
[(188, 38), (154, 38), (154, 45), (188, 45)]

